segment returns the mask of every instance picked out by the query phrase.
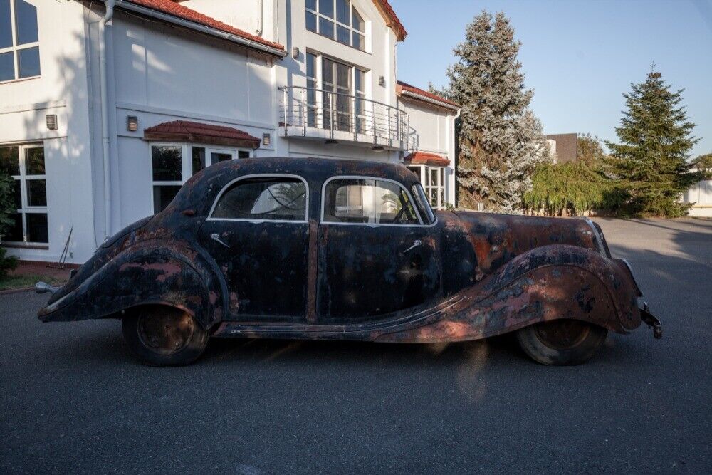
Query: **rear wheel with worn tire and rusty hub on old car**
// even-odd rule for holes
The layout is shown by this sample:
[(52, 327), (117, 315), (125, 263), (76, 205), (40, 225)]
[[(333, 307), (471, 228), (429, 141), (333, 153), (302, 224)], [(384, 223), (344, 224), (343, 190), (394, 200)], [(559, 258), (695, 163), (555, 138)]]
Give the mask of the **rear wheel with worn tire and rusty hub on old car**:
[(149, 366), (189, 365), (208, 343), (208, 332), (195, 318), (169, 306), (127, 310), (121, 326), (132, 355)]

